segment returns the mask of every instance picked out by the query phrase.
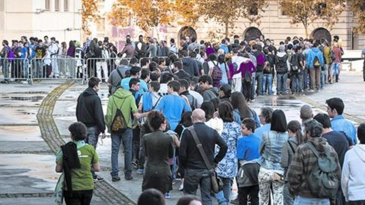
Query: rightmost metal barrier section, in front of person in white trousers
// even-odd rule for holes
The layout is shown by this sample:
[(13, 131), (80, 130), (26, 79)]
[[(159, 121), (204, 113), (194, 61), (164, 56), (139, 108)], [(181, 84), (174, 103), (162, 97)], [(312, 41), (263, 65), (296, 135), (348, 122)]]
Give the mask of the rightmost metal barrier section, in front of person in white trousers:
[(128, 65), (131, 58), (87, 58), (86, 73), (89, 78), (97, 77), (105, 82), (119, 65)]

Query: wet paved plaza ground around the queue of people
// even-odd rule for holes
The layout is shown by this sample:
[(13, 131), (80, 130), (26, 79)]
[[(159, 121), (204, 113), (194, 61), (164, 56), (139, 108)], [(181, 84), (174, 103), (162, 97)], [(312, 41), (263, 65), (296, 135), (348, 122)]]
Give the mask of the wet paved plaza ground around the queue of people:
[[(55, 152), (70, 140), (68, 126), (76, 121), (78, 95), (86, 85), (49, 80), (33, 85), (2, 84), (0, 86), (0, 204), (53, 204), (53, 191), (58, 180), (55, 173)], [(104, 113), (108, 101), (105, 83), (99, 92)], [(362, 72), (344, 71), (340, 82), (327, 85), (318, 93), (306, 96), (260, 96), (250, 104), (256, 112), (262, 106), (283, 109), (287, 121), (300, 120), (299, 110), (304, 104), (314, 114), (325, 112), (325, 101), (341, 97), (345, 102), (346, 117), (354, 123), (365, 122), (365, 82)], [(134, 204), (141, 194), (142, 176), (133, 170), (134, 180), (123, 177), (123, 153), (119, 154), (121, 181), (111, 182), (111, 139), (99, 140), (100, 176), (96, 183), (93, 205)], [(172, 198), (166, 204), (174, 205), (182, 192), (174, 185)]]

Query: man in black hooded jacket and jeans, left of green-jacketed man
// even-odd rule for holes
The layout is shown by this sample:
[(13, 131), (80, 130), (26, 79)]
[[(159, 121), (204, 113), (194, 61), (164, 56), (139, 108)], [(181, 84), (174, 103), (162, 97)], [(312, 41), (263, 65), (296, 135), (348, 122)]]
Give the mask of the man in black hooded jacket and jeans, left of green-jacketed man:
[[(96, 77), (89, 79), (89, 87), (84, 90), (77, 98), (76, 118), (87, 127), (87, 137), (85, 142), (96, 148), (98, 136), (103, 133), (105, 137), (105, 121), (101, 100), (97, 95), (100, 90), (101, 80)], [(95, 181), (102, 181), (95, 173), (93, 173)]]

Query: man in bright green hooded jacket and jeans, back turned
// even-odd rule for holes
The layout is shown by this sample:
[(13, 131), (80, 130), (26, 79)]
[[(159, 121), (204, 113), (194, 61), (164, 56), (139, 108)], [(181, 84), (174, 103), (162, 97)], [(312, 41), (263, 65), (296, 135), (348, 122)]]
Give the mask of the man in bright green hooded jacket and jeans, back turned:
[[(120, 110), (126, 123), (127, 129), (123, 132), (112, 132), (111, 126), (115, 118), (117, 110)], [(105, 124), (108, 127), (108, 131), (111, 132), (112, 138), (112, 181), (119, 181), (118, 177), (118, 153), (120, 143), (123, 142), (124, 147), (124, 178), (127, 180), (133, 179), (132, 177), (132, 119), (131, 112), (135, 118), (139, 118), (137, 106), (135, 104), (134, 96), (129, 90), (123, 89), (122, 86), (118, 86), (115, 93), (110, 96), (108, 101), (107, 115), (105, 116)]]

